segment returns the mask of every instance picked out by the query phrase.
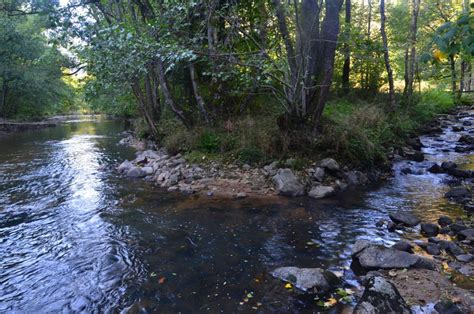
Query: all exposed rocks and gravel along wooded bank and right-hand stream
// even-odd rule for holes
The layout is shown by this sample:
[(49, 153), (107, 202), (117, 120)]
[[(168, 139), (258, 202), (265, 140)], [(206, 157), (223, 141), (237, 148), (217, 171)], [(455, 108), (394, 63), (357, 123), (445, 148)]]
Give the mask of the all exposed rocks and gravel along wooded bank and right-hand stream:
[[(322, 308), (352, 298), (356, 313), (473, 312), (474, 171), (451, 160), (427, 163), (425, 159), (425, 153), (431, 149), (470, 154), (474, 150), (473, 118), (468, 108), (440, 116), (422, 130), (432, 147), (426, 147), (416, 137), (390, 156), (396, 165), (394, 171), (402, 176), (426, 173), (443, 176), (443, 184), (451, 187), (445, 194), (446, 201), (462, 204), (464, 208), (458, 219), (440, 216), (436, 223), (424, 222), (399, 209), (378, 221), (380, 230), (398, 233), (406, 239), (390, 247), (357, 240), (352, 249), (351, 268), (358, 276), (358, 287), (321, 268), (288, 265), (275, 269), (272, 275), (287, 282), (287, 288), (295, 293), (318, 296)], [(437, 137), (445, 130), (455, 134), (449, 143)], [(332, 158), (320, 160), (302, 171), (290, 169), (291, 160), (262, 168), (218, 162), (189, 164), (180, 154), (171, 156), (163, 149), (145, 150), (150, 143), (132, 136), (122, 140), (122, 144), (141, 150), (134, 160), (118, 166), (120, 173), (144, 178), (170, 192), (208, 197), (280, 195), (321, 199), (376, 182), (384, 175), (350, 170)]]

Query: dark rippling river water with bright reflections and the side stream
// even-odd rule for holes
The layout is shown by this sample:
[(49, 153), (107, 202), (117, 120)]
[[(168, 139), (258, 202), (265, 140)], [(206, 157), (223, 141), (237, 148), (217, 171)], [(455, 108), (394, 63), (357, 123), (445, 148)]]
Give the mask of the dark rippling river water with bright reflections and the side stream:
[[(117, 145), (124, 128), (79, 120), (0, 137), (0, 312), (311, 311), (268, 273), (322, 267), (356, 285), (355, 240), (401, 237), (375, 227), (388, 213), (461, 213), (443, 198), (446, 175), (400, 174), (408, 162), (379, 187), (323, 201), (170, 194), (116, 174), (134, 156)], [(458, 137), (423, 137), (427, 161), (412, 166), (472, 168), (472, 155), (447, 149)]]

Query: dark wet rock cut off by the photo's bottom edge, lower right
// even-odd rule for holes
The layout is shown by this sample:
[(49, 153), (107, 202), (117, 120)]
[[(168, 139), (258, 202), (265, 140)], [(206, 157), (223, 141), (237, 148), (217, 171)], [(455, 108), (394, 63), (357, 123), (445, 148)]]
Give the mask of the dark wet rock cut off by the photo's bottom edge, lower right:
[(411, 310), (391, 282), (383, 277), (374, 276), (366, 282), (364, 294), (357, 303), (354, 313), (411, 313)]

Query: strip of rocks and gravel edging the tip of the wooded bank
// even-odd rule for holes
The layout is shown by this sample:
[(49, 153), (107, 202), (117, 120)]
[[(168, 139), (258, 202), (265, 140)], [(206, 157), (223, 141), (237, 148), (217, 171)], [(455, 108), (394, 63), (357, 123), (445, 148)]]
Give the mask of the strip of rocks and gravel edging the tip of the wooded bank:
[[(136, 148), (149, 146), (133, 136), (127, 136), (121, 144)], [(191, 165), (181, 154), (170, 155), (164, 149), (149, 149), (139, 151), (134, 160), (124, 161), (117, 170), (128, 177), (146, 178), (169, 191), (204, 192), (238, 198), (249, 194), (262, 196), (276, 193), (292, 197), (308, 195), (319, 199), (369, 182), (364, 173), (343, 171), (331, 158), (299, 172), (285, 167), (285, 164), (283, 168), (279, 165), (272, 162), (258, 168), (216, 161)]]

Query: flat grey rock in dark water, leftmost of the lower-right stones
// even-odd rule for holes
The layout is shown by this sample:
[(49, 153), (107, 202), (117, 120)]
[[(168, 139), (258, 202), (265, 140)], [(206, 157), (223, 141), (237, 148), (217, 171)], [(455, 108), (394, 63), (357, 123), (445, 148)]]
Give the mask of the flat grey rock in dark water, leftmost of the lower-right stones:
[(341, 283), (336, 275), (321, 268), (280, 267), (272, 272), (272, 276), (309, 293), (331, 291)]

